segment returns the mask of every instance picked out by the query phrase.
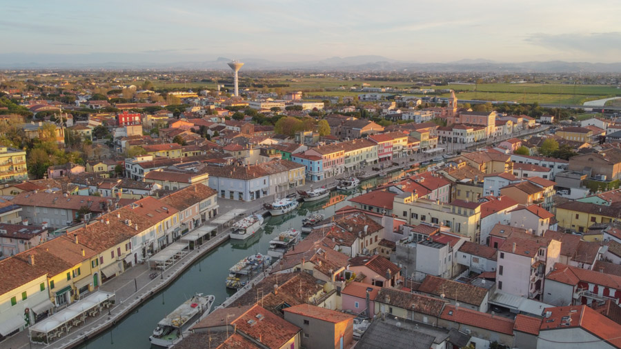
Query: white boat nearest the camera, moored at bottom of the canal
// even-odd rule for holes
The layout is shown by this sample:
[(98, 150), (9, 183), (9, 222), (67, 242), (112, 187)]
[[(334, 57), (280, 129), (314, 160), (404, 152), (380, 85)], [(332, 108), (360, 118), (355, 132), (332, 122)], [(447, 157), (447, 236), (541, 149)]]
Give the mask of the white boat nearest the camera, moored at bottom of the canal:
[(181, 303), (157, 323), (153, 334), (149, 337), (152, 346), (169, 348), (181, 341), (181, 333), (194, 326), (211, 311), (215, 297), (197, 293), (194, 297)]

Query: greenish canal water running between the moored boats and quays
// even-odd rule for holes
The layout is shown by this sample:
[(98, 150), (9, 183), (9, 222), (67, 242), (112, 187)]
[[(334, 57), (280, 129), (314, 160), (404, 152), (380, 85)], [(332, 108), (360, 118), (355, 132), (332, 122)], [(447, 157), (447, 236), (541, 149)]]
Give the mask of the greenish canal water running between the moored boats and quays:
[[(188, 268), (170, 286), (136, 308), (116, 326), (83, 344), (80, 348), (150, 348), (149, 336), (157, 322), (194, 295), (195, 292), (215, 295), (214, 308), (233, 295), (235, 291), (224, 286), (228, 268), (240, 259), (254, 253), (267, 253), (269, 241), (288, 228), (299, 229), (302, 219), (313, 213), (331, 217), (346, 205), (347, 199), (360, 195), (367, 189), (392, 181), (404, 175), (402, 170), (385, 177), (362, 181), (354, 192), (331, 192), (330, 199), (303, 203), (288, 215), (269, 217), (262, 230), (246, 241), (230, 240), (204, 255)], [(344, 195), (345, 194), (345, 195)]]

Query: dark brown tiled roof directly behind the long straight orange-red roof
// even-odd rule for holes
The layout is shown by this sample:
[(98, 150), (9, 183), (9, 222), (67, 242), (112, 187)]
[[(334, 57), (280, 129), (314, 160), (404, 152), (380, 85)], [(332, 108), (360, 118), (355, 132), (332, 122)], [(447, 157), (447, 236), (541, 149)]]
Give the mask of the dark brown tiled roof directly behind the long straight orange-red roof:
[(442, 279), (442, 277), (434, 277), (427, 275), (420, 287), (419, 292), (428, 293), (441, 297), (442, 295), (449, 295), (447, 297), (455, 299), (462, 303), (472, 304), (473, 306), (480, 306), (487, 295), (485, 288), (468, 285), (453, 280)]

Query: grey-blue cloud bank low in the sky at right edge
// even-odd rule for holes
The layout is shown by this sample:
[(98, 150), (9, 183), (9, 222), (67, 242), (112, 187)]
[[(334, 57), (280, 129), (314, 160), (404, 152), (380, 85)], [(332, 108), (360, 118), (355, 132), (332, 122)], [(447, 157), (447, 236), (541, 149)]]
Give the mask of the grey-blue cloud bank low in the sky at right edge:
[(524, 39), (524, 41), (544, 48), (598, 54), (620, 50), (621, 32), (591, 32), (587, 34), (535, 33)]

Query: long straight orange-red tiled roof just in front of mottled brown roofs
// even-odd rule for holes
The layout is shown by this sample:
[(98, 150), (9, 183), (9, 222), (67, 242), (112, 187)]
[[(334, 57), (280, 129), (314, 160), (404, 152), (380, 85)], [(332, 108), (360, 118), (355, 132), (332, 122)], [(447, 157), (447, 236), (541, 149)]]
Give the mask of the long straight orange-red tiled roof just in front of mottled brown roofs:
[(505, 335), (513, 335), (513, 320), (497, 317), (486, 312), (477, 312), (476, 310), (455, 308), (455, 306), (447, 305), (444, 307), (440, 317), (455, 323), (504, 333)]

